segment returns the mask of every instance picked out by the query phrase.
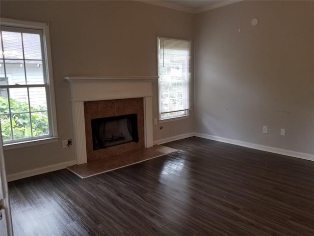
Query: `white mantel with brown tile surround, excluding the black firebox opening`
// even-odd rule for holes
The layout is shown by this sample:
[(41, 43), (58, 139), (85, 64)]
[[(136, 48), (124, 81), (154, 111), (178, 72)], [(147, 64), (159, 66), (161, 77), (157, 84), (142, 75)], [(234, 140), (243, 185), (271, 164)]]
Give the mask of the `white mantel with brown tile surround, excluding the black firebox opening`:
[[(152, 82), (158, 77), (66, 77), (71, 84), (77, 164), (135, 148), (153, 146)], [(92, 118), (137, 114), (139, 142), (94, 151)], [(86, 128), (87, 127), (87, 128)]]

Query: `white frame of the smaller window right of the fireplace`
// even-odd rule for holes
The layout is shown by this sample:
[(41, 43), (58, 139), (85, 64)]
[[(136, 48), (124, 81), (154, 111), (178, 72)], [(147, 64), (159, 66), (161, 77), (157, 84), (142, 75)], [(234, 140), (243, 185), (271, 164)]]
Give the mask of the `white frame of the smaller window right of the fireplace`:
[[(160, 47), (160, 39), (166, 39), (166, 40), (177, 40), (177, 41), (184, 41), (184, 42), (189, 42), (191, 43), (191, 41), (189, 40), (182, 40), (182, 39), (174, 39), (174, 38), (165, 38), (165, 37), (157, 37), (157, 71), (158, 71), (158, 107), (159, 107), (159, 123), (163, 123), (163, 122), (168, 122), (168, 121), (175, 121), (175, 120), (179, 120), (179, 119), (185, 119), (185, 118), (189, 118), (190, 116), (190, 109), (186, 109), (186, 110), (183, 110), (183, 114), (180, 114), (180, 115), (172, 115), (172, 116), (169, 116), (169, 117), (162, 117), (162, 112), (161, 112), (161, 92), (160, 92), (160, 89), (161, 89), (161, 82), (160, 82), (160, 73), (159, 73), (159, 64), (160, 64), (160, 55), (159, 55), (159, 47)], [(190, 54), (191, 54), (191, 48), (190, 48)], [(190, 57), (191, 59), (191, 57)], [(190, 62), (191, 63), (191, 62)], [(190, 70), (192, 68), (189, 68)], [(192, 75), (191, 75), (191, 72), (190, 72), (190, 83), (192, 83)], [(190, 97), (189, 99), (191, 99), (191, 89), (192, 87), (190, 86), (188, 89), (190, 89), (189, 93), (190, 93)], [(191, 101), (189, 101), (191, 102)], [(191, 106), (191, 105), (190, 105)]]

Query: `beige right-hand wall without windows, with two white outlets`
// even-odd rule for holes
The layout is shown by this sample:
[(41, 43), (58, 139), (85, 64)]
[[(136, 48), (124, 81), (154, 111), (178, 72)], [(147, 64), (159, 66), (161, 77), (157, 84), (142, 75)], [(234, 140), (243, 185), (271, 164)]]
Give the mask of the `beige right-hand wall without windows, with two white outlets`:
[(194, 32), (195, 131), (314, 154), (314, 1), (241, 1)]

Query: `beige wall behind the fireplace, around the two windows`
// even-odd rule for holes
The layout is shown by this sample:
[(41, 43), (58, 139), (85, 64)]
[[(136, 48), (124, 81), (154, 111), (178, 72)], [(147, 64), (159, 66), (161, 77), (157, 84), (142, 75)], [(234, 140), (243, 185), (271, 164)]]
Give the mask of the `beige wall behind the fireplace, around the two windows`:
[[(157, 36), (193, 39), (192, 15), (136, 1), (5, 1), (1, 17), (49, 22), (58, 143), (5, 151), (7, 174), (74, 160), (65, 76), (156, 76)], [(154, 83), (154, 118), (158, 117)], [(192, 132), (192, 118), (154, 125), (154, 140)]]

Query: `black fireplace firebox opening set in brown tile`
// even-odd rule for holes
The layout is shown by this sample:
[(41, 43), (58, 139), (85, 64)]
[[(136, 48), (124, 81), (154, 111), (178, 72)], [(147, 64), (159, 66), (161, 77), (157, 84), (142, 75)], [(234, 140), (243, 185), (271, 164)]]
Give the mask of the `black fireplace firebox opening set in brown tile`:
[(91, 120), (93, 149), (138, 142), (137, 114)]

